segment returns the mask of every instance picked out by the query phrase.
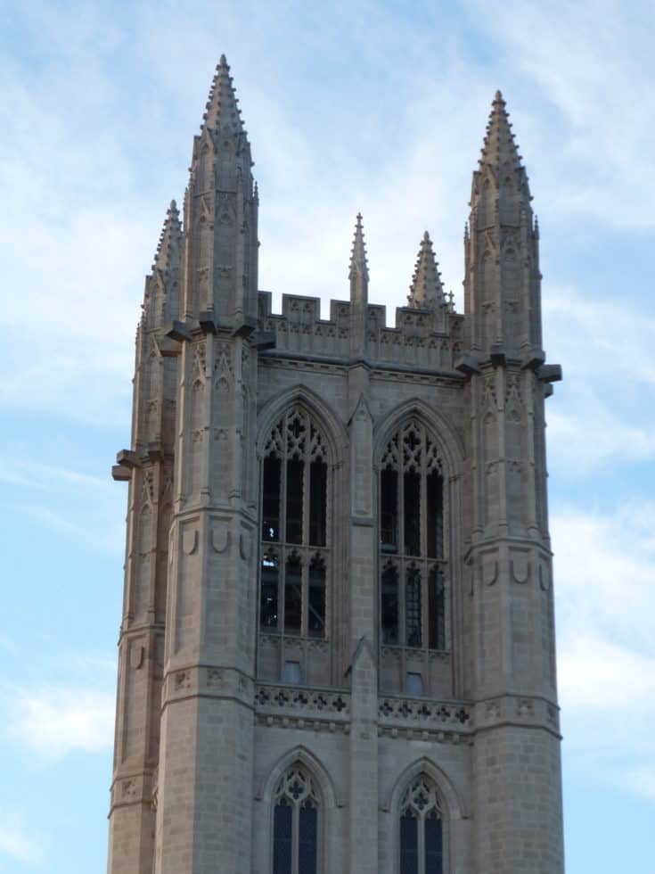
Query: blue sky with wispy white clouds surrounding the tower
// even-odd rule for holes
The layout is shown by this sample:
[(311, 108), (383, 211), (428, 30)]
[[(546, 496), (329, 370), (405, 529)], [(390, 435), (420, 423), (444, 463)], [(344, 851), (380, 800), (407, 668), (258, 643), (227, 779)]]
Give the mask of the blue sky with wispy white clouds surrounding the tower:
[[(651, 3), (0, 0), (0, 872), (106, 858), (134, 335), (221, 52), (260, 285), (405, 301), (423, 230), (462, 307), (502, 88), (542, 231), (569, 874), (655, 872)], [(326, 310), (323, 310), (326, 311)]]

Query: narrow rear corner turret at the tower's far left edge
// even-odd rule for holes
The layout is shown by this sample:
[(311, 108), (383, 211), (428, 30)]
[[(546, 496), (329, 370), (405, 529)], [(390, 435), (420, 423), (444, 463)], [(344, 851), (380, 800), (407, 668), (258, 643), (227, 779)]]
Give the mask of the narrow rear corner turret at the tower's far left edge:
[(114, 775), (108, 870), (150, 874), (152, 796), (160, 754), (160, 699), (173, 512), (176, 358), (162, 326), (177, 317), (182, 232), (168, 210), (146, 277), (136, 334), (132, 449), (119, 452), (114, 478), (129, 481), (125, 594), (119, 638)]

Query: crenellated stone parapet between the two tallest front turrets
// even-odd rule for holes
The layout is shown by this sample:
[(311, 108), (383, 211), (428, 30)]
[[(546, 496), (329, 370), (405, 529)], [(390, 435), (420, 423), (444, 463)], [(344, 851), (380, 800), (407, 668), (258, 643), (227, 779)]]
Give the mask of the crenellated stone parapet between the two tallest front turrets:
[[(396, 326), (387, 324), (387, 308), (366, 308), (367, 358), (387, 367), (453, 371), (462, 353), (463, 315), (447, 307), (397, 307)], [(349, 301), (330, 301), (330, 317), (321, 318), (320, 300), (282, 295), (282, 313), (272, 311), (270, 292), (258, 293), (258, 327), (275, 337), (275, 352), (349, 359), (353, 313)], [(266, 354), (266, 353), (264, 353)]]

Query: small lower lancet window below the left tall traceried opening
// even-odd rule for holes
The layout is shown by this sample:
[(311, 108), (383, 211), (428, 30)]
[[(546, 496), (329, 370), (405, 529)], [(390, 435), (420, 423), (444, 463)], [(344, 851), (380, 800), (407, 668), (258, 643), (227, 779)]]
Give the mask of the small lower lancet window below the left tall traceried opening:
[(294, 766), (275, 789), (273, 874), (317, 874), (318, 817), (314, 781)]

